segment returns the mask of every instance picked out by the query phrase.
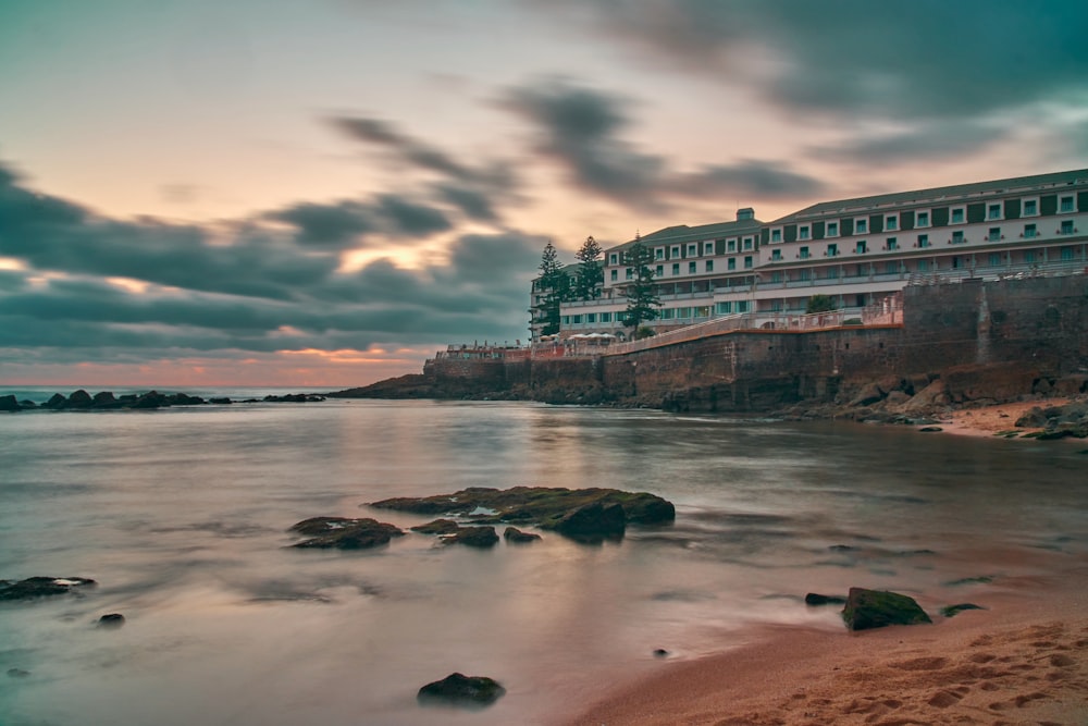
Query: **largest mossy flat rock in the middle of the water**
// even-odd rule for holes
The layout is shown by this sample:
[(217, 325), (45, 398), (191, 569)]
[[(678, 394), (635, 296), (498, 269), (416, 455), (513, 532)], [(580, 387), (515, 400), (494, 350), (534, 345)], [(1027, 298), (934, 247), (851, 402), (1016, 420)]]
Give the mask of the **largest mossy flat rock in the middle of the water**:
[(597, 488), (472, 487), (453, 494), (382, 500), (370, 506), (462, 517), (475, 524), (536, 525), (572, 537), (592, 529), (589, 522), (593, 519), (597, 520), (597, 534), (591, 537), (622, 536), (629, 524), (660, 525), (676, 519), (676, 507), (660, 496)]

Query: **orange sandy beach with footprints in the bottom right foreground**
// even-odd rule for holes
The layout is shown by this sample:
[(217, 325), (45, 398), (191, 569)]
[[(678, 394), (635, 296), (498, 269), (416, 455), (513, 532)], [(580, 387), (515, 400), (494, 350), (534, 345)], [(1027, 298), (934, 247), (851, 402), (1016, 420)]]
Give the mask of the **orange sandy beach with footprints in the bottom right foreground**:
[[(664, 662), (565, 726), (1088, 723), (1088, 566), (1024, 578), (988, 610), (862, 632), (762, 626)], [(920, 599), (919, 599), (920, 600)], [(931, 610), (929, 603), (924, 603)]]

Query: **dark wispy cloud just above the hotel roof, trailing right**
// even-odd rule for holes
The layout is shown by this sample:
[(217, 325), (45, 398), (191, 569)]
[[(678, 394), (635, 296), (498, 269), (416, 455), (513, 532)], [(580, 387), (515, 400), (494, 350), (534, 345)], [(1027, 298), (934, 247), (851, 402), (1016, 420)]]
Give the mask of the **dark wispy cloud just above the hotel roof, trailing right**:
[(782, 162), (747, 160), (694, 173), (668, 169), (620, 134), (630, 124), (625, 99), (548, 79), (512, 89), (504, 106), (541, 133), (536, 151), (567, 170), (571, 182), (621, 204), (663, 209), (678, 198), (729, 194), (747, 198), (796, 198), (823, 189), (815, 179)]

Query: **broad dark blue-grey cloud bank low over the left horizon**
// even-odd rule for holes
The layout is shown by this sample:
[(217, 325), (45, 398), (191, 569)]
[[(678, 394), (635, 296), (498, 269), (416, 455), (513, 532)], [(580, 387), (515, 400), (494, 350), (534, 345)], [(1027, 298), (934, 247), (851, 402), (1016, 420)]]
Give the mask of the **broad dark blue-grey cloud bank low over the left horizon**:
[[(430, 234), (450, 224), (394, 195), (351, 204), (342, 210), (383, 233)], [(334, 207), (296, 205), (270, 217), (296, 224), (300, 235), (332, 239), (337, 219), (323, 214)], [(353, 220), (339, 221), (350, 227)], [(468, 235), (453, 242), (448, 259), (421, 269), (380, 259), (343, 272), (337, 255), (255, 225), (213, 234), (97, 217), (29, 192), (0, 165), (0, 255), (26, 266), (0, 270), (0, 360), (132, 362), (512, 341), (526, 334), (528, 286), (543, 244), (517, 232)]]

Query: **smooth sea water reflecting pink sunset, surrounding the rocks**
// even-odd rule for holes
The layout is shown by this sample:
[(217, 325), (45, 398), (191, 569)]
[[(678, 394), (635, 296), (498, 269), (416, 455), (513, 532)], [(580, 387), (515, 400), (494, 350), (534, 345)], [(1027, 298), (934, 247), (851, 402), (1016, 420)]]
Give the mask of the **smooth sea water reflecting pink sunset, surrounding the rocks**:
[[(0, 578), (99, 582), (0, 606), (0, 724), (548, 723), (659, 667), (657, 648), (719, 651), (752, 623), (841, 629), (807, 591), (934, 610), (1083, 563), (1084, 447), (520, 403), (0, 415)], [(599, 546), (287, 547), (307, 517), (408, 527), (426, 519), (362, 505), (516, 484), (651, 491), (677, 522)], [(114, 612), (123, 628), (95, 627)], [(455, 670), (508, 692), (417, 705)]]

